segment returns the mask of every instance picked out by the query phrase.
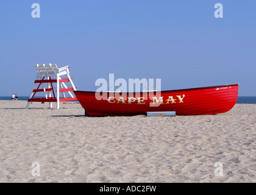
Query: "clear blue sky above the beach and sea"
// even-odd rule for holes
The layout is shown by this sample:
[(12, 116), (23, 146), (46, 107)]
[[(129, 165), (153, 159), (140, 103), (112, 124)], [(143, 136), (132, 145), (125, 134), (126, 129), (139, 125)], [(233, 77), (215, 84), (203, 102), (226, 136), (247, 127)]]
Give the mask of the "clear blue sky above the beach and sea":
[(239, 96), (256, 96), (254, 0), (5, 0), (0, 24), (0, 96), (30, 96), (37, 63), (69, 65), (77, 90), (114, 73), (162, 79), (162, 90), (240, 83)]

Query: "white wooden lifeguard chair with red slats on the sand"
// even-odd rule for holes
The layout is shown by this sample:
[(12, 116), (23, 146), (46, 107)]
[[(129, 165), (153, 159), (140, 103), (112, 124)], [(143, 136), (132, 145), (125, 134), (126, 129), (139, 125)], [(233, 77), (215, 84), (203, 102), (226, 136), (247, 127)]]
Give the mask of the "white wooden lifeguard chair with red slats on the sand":
[[(77, 100), (71, 93), (72, 91), (76, 91), (76, 87), (72, 78), (69, 76), (69, 66), (58, 68), (57, 65), (50, 63), (49, 65), (37, 64), (35, 68), (37, 69), (37, 80), (34, 82), (34, 89), (30, 98), (27, 100), (26, 108), (29, 108), (30, 102), (49, 102), (50, 108), (52, 108), (52, 102), (57, 102), (57, 109), (59, 109), (60, 102)], [(66, 78), (62, 79), (62, 76), (66, 76)], [(68, 88), (65, 82), (69, 82), (71, 87)], [(47, 87), (44, 86), (44, 83), (47, 83)], [(45, 98), (34, 98), (37, 92), (44, 92)], [(60, 92), (62, 92), (63, 97), (60, 97)], [(65, 92), (69, 93), (68, 97)]]

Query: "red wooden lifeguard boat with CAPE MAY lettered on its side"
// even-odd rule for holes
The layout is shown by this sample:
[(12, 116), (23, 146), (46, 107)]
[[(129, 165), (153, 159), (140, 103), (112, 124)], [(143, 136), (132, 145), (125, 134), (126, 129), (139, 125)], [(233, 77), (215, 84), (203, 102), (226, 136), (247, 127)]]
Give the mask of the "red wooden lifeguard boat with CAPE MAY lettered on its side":
[(212, 115), (229, 111), (236, 103), (238, 84), (148, 93), (74, 91), (88, 116), (133, 116), (147, 112), (176, 115)]

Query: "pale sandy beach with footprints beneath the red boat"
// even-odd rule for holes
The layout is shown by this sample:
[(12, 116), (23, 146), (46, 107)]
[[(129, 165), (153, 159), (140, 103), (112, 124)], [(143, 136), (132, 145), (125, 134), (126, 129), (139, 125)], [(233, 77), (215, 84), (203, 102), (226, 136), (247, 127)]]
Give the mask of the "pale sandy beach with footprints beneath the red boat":
[(175, 117), (26, 104), (0, 101), (0, 182), (256, 182), (256, 104)]

